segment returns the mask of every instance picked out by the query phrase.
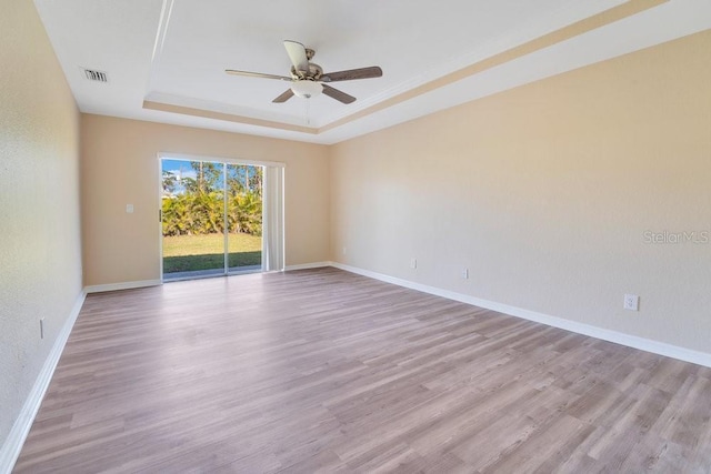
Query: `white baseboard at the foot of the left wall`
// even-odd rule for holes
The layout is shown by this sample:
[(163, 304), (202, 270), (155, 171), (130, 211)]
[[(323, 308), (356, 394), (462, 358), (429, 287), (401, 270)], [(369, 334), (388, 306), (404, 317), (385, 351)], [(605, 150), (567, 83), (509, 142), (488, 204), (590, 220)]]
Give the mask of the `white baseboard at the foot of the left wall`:
[(12, 467), (20, 456), (20, 451), (22, 451), (24, 440), (30, 433), (30, 428), (34, 422), (34, 416), (37, 416), (37, 412), (40, 410), (44, 393), (47, 393), (49, 383), (54, 374), (54, 369), (57, 369), (59, 357), (62, 355), (69, 334), (74, 326), (74, 322), (77, 321), (77, 316), (79, 316), (79, 312), (81, 311), (81, 306), (83, 305), (86, 297), (87, 293), (83, 291), (79, 296), (77, 296), (77, 301), (71, 309), (71, 313), (57, 335), (54, 345), (52, 345), (52, 350), (47, 356), (44, 365), (42, 365), (42, 370), (37, 376), (34, 385), (24, 401), (18, 418), (14, 421), (14, 424), (10, 430), (10, 434), (8, 434), (2, 447), (0, 447), (0, 473), (2, 474), (9, 474), (12, 472)]

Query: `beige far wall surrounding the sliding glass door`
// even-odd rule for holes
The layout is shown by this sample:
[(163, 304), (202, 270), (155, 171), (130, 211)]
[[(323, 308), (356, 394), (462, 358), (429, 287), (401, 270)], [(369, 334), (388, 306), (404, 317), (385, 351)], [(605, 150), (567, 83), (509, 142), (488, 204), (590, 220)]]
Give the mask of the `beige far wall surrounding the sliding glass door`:
[(286, 163), (287, 265), (328, 260), (326, 147), (89, 114), (81, 132), (84, 284), (160, 278), (160, 152)]

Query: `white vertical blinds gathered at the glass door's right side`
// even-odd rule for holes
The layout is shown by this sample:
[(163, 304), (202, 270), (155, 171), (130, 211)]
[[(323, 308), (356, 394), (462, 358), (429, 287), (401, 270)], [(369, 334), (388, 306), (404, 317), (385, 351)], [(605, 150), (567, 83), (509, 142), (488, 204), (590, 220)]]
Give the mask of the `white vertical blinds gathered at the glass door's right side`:
[(262, 270), (281, 271), (284, 269), (284, 169), (264, 167), (264, 188), (262, 201), (263, 258)]

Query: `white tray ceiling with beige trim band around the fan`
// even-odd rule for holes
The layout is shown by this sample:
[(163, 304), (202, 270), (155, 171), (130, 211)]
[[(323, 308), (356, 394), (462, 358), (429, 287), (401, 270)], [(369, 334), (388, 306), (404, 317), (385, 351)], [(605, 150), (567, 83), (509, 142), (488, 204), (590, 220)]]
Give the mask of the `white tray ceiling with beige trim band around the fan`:
[[(651, 1), (651, 0), (645, 0)], [(585, 64), (711, 28), (709, 0), (671, 0), (408, 100), (383, 101), (624, 0), (34, 0), (82, 112), (336, 143)], [(632, 3), (639, 3), (633, 0)], [(333, 85), (358, 98), (271, 100), (288, 83), (282, 40), (316, 50), (326, 72), (380, 65)], [(82, 68), (108, 73), (90, 82)], [(143, 108), (144, 101), (233, 120)], [(388, 103), (390, 103), (388, 102)], [(178, 110), (174, 109), (173, 110)], [(358, 112), (358, 119), (351, 115)], [(223, 115), (224, 117), (224, 115)], [(254, 120), (272, 122), (256, 125)], [(247, 121), (250, 123), (240, 123)], [(329, 124), (343, 122), (338, 127)], [(291, 125), (311, 132), (288, 130)], [(323, 129), (317, 133), (317, 129)], [(328, 129), (328, 130), (327, 130)]]

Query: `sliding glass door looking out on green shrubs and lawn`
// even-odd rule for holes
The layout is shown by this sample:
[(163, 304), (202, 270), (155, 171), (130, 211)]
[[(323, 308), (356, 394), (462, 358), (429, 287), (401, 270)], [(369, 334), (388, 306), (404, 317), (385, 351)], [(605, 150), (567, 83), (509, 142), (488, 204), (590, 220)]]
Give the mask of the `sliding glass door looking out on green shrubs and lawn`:
[(161, 159), (163, 280), (262, 270), (263, 167)]

